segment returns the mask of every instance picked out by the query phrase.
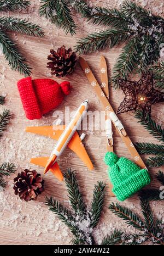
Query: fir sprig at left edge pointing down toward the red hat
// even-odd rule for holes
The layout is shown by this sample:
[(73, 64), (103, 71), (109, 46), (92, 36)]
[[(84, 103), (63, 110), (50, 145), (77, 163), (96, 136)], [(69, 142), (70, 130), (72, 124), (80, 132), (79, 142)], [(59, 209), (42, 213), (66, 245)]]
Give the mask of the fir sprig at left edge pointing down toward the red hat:
[(13, 43), (3, 31), (0, 31), (0, 43), (3, 47), (3, 54), (13, 70), (18, 70), (20, 74), (30, 76), (31, 68), (25, 63), (26, 59), (18, 53), (15, 43)]

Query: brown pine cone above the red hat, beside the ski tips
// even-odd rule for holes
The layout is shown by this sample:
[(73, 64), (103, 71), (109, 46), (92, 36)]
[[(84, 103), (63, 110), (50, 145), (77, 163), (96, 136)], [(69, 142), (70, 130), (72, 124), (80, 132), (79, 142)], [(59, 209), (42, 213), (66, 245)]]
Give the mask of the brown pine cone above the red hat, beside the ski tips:
[(50, 53), (48, 59), (51, 62), (47, 63), (47, 68), (51, 69), (52, 75), (61, 77), (72, 73), (77, 65), (77, 55), (72, 52), (72, 48), (66, 50), (65, 46), (61, 46), (57, 52), (51, 49)]

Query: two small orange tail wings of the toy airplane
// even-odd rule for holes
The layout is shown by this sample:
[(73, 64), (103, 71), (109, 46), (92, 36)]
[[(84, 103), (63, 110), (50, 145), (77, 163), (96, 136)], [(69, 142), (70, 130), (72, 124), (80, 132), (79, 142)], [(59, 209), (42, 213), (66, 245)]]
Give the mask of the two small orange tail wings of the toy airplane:
[[(49, 157), (31, 158), (30, 163), (45, 167), (48, 159)], [(54, 174), (57, 177), (58, 180), (60, 181), (63, 180), (63, 175), (57, 162), (55, 162), (55, 164), (51, 166), (50, 171), (52, 172), (52, 174)]]

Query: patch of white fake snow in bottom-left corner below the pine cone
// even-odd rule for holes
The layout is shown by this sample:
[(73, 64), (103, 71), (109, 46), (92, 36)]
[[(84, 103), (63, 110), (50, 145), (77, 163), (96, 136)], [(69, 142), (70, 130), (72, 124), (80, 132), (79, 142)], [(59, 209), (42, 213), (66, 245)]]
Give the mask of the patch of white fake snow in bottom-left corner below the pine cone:
[[(8, 186), (13, 186), (11, 181)], [(8, 189), (9, 187), (6, 188), (6, 191), (0, 192), (0, 230), (16, 231), (17, 237), (23, 243), (26, 239), (32, 238), (31, 244), (36, 244), (38, 237), (47, 243), (49, 236), (51, 236), (51, 240), (59, 243), (61, 243), (60, 236), (67, 236), (67, 243), (71, 242), (71, 233), (68, 227), (58, 220), (57, 216), (50, 212), (44, 203), (30, 201), (27, 205), (14, 193), (13, 195), (7, 193)]]

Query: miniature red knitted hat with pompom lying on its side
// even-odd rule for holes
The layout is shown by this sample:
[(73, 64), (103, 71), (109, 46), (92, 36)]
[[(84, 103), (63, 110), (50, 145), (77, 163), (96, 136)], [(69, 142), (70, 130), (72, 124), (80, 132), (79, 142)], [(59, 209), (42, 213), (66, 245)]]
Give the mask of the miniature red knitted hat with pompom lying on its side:
[(71, 91), (69, 82), (60, 85), (52, 79), (26, 77), (17, 82), (21, 101), (28, 119), (39, 119), (56, 108)]

